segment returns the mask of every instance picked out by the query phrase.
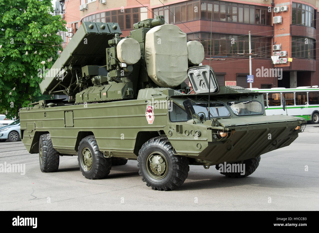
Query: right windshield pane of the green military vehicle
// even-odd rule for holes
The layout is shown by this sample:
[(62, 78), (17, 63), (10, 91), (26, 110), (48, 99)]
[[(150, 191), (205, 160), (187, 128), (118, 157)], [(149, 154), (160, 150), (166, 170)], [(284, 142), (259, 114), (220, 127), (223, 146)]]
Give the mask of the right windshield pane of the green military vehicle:
[(263, 106), (256, 100), (228, 102), (228, 106), (237, 116), (263, 114)]

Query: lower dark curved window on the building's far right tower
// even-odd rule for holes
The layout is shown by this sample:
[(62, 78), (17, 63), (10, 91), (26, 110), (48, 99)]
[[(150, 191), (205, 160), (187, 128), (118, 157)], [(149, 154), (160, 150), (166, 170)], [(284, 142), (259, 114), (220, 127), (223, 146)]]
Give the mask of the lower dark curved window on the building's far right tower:
[(312, 38), (291, 37), (292, 57), (315, 59), (314, 42)]

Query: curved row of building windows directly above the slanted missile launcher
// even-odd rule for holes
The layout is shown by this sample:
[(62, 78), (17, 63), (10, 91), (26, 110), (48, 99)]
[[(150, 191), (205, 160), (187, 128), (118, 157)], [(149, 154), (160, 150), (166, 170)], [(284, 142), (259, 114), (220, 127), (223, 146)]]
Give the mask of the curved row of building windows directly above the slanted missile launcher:
[(140, 12), (140, 9), (142, 8), (127, 8), (101, 12), (83, 18), (82, 22), (118, 23), (121, 30), (131, 30), (133, 29), (133, 24), (140, 21), (140, 15), (145, 17), (145, 12), (142, 12), (143, 15)]

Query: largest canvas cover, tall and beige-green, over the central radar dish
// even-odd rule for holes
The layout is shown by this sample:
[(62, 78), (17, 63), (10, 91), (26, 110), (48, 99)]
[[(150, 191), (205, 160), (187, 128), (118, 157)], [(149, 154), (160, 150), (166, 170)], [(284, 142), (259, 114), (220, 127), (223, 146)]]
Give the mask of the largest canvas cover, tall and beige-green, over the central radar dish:
[(173, 24), (146, 33), (145, 62), (148, 76), (161, 87), (180, 85), (187, 78), (186, 34)]

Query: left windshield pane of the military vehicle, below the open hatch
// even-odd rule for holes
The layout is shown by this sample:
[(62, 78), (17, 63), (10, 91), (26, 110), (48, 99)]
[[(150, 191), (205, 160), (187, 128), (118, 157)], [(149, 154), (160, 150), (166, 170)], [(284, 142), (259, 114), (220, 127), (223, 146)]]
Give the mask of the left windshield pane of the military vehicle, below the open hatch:
[[(208, 118), (208, 103), (193, 103), (195, 113), (203, 112), (206, 118)], [(214, 102), (209, 105), (210, 117), (228, 117), (230, 112), (223, 103)], [(199, 114), (201, 115), (201, 114)]]

